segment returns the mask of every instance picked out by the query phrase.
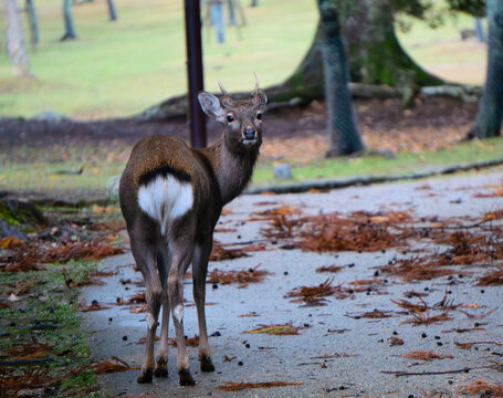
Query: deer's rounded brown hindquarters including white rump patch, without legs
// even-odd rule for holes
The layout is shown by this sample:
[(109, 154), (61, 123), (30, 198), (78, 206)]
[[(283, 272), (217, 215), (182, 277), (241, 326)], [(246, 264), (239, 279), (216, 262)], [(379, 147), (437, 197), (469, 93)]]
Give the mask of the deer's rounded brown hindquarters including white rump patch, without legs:
[[(220, 206), (208, 159), (171, 136), (150, 136), (135, 145), (120, 178), (119, 201), (128, 228), (147, 214), (161, 233), (174, 219), (189, 214), (206, 220)], [(211, 228), (213, 219), (207, 221)]]

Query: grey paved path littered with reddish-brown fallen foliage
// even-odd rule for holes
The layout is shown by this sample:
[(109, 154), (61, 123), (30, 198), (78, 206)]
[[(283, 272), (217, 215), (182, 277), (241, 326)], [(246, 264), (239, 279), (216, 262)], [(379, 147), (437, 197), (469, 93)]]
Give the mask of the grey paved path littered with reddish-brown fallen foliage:
[[(417, 216), (479, 217), (488, 211), (503, 209), (503, 198), (474, 198), (476, 192), (489, 192), (494, 185), (503, 185), (501, 169), (485, 170), (479, 174), (457, 175), (449, 178), (427, 181), (352, 187), (333, 190), (327, 193), (302, 193), (277, 196), (244, 196), (229, 206), (232, 211), (221, 218), (222, 227), (235, 228), (237, 232), (218, 233), (221, 242), (261, 239), (262, 222), (245, 222), (250, 212), (269, 209), (279, 205), (300, 206), (304, 213), (339, 211), (348, 213), (355, 210), (378, 211), (383, 209), (412, 210)], [(428, 184), (431, 189), (425, 188)], [(492, 186), (492, 187), (491, 187)], [(264, 203), (266, 202), (266, 203)], [(271, 202), (275, 202), (273, 205)], [(240, 235), (240, 237), (238, 237)], [(421, 245), (422, 247), (422, 245)], [(430, 248), (431, 249), (431, 248)], [(451, 397), (462, 385), (479, 377), (490, 383), (501, 383), (503, 375), (486, 368), (492, 362), (501, 363), (503, 346), (478, 345), (461, 349), (454, 342), (503, 342), (503, 289), (475, 287), (473, 279), (457, 279), (452, 284), (448, 277), (432, 281), (404, 283), (399, 279), (389, 279), (387, 294), (369, 295), (358, 293), (353, 298), (335, 300), (328, 297), (326, 306), (301, 307), (284, 298), (286, 292), (300, 285), (316, 285), (326, 280), (327, 274), (314, 270), (322, 265), (346, 265), (335, 274), (335, 283), (373, 277), (375, 268), (386, 264), (401, 253), (387, 250), (374, 253), (311, 253), (300, 250), (268, 250), (254, 252), (251, 256), (211, 263), (210, 270), (249, 269), (261, 266), (274, 275), (264, 282), (250, 284), (247, 289), (237, 285), (207, 286), (207, 306), (209, 333), (219, 332), (220, 336), (210, 337), (212, 359), (217, 371), (201, 374), (197, 362), (197, 348), (189, 347), (191, 371), (197, 380), (193, 387), (179, 387), (176, 374), (176, 354), (168, 362), (168, 379), (155, 379), (149, 386), (136, 384), (137, 370), (111, 374), (101, 377), (107, 396), (139, 396), (145, 392), (154, 397), (421, 397), (427, 394), (442, 394)], [(104, 262), (104, 268), (132, 264), (130, 254), (115, 256)], [(481, 270), (475, 270), (475, 275)], [(143, 286), (119, 283), (119, 279), (139, 279), (130, 266), (119, 268), (116, 276), (107, 279), (107, 286), (90, 286), (84, 291), (87, 302), (115, 302), (117, 296), (129, 297)], [(125, 290), (130, 289), (130, 290)], [(459, 311), (451, 313), (454, 320), (428, 326), (400, 325), (407, 317), (398, 315), (399, 308), (390, 298), (405, 298), (410, 290), (428, 289), (428, 303), (439, 302), (447, 290), (454, 303), (476, 303), (479, 313), (495, 310), (482, 321), (468, 318)], [(186, 284), (186, 298), (191, 301), (191, 284)], [(415, 300), (411, 300), (415, 302)], [(344, 316), (347, 313), (364, 311), (391, 311), (394, 316), (384, 320), (355, 320)], [(255, 312), (259, 317), (239, 317)], [(85, 328), (91, 332), (91, 347), (97, 359), (115, 355), (129, 364), (142, 363), (143, 345), (138, 341), (146, 332), (143, 314), (130, 314), (125, 307), (86, 313)], [(112, 320), (112, 321), (111, 321)], [(195, 307), (187, 307), (185, 331), (189, 337), (197, 334)], [(259, 324), (281, 324), (308, 327), (296, 336), (269, 336), (243, 334)], [(484, 331), (474, 333), (442, 333), (446, 329), (473, 327), (475, 322), (483, 323)], [(334, 329), (347, 329), (344, 333), (331, 333)], [(174, 335), (172, 326), (170, 336)], [(124, 337), (123, 337), (124, 336)], [(401, 346), (390, 346), (388, 337), (402, 338)], [(127, 337), (127, 339), (126, 339)], [(263, 348), (268, 347), (268, 348)], [(418, 362), (402, 358), (411, 350), (433, 350), (452, 355), (451, 359)], [(337, 354), (337, 355), (336, 355)], [(327, 359), (319, 356), (336, 355)], [(235, 357), (224, 362), (224, 356)], [(415, 365), (415, 363), (420, 363)], [(383, 370), (442, 371), (472, 368), (469, 373), (436, 376), (405, 376), (383, 374)], [(252, 389), (226, 392), (217, 389), (224, 381), (301, 381), (301, 386), (271, 389)]]

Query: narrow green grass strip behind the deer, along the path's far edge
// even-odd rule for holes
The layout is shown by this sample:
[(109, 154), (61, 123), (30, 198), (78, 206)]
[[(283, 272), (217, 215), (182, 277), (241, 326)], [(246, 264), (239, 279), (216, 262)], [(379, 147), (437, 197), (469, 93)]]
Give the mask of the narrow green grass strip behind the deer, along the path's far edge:
[[(117, 149), (117, 148), (115, 148)], [(125, 158), (106, 158), (102, 154), (109, 148), (56, 149), (24, 148), (15, 160), (4, 154), (0, 156), (0, 185), (2, 189), (17, 192), (42, 192), (45, 197), (61, 197), (71, 201), (104, 198), (105, 182), (124, 170)], [(54, 161), (55, 154), (65, 160)], [(102, 155), (101, 155), (102, 154)], [(471, 161), (499, 159), (503, 154), (503, 138), (469, 142), (439, 151), (399, 153), (395, 159), (381, 156), (340, 157), (314, 159), (308, 164), (298, 159), (282, 159), (293, 169), (293, 180), (273, 178), (273, 161), (259, 158), (253, 175), (253, 186), (298, 182), (317, 178), (337, 178), (358, 175), (407, 175), (428, 168), (437, 168)], [(34, 160), (33, 160), (34, 159)], [(82, 175), (57, 175), (56, 170), (76, 170), (86, 165)], [(88, 166), (87, 166), (88, 165)], [(29, 188), (27, 188), (29, 187)]]

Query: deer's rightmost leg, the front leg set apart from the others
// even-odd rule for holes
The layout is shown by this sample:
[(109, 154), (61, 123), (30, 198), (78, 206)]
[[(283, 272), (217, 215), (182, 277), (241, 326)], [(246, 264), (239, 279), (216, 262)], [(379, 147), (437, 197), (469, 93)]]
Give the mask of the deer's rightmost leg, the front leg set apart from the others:
[(192, 281), (193, 301), (198, 312), (199, 324), (199, 360), (201, 371), (213, 371), (214, 366), (210, 357), (210, 345), (208, 343), (208, 332), (206, 328), (205, 298), (206, 298), (206, 276), (208, 273), (208, 260), (212, 248), (211, 238), (202, 245), (197, 245), (192, 260)]

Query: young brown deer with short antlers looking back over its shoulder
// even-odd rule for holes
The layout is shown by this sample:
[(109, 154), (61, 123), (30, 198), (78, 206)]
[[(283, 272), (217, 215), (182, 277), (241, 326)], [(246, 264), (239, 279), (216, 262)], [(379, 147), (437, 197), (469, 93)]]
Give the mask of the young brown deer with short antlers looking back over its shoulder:
[[(212, 146), (192, 149), (184, 140), (151, 136), (139, 140), (120, 178), (119, 201), (130, 248), (147, 285), (147, 343), (138, 383), (167, 377), (168, 323), (172, 310), (177, 339), (177, 367), (181, 386), (193, 385), (184, 339), (184, 286), (192, 263), (193, 298), (199, 323), (199, 359), (202, 371), (213, 371), (205, 318), (208, 260), (214, 226), (222, 207), (249, 182), (262, 143), (265, 93), (255, 90), (249, 100), (233, 100), (222, 87), (219, 101), (200, 93), (205, 113), (223, 125)], [(154, 339), (163, 306), (160, 343), (154, 368)]]

